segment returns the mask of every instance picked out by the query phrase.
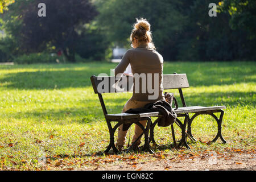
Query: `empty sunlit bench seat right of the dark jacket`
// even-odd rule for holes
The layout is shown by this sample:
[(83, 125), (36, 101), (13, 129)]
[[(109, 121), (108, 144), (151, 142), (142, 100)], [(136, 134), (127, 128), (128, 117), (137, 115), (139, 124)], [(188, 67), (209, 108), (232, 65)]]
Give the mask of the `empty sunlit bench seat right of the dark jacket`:
[(212, 111), (212, 110), (219, 110), (219, 109), (226, 109), (226, 106), (210, 106), (210, 107), (190, 106), (190, 107), (179, 107), (177, 110), (175, 110), (175, 113), (176, 114), (196, 113), (196, 112), (200, 112), (200, 111)]

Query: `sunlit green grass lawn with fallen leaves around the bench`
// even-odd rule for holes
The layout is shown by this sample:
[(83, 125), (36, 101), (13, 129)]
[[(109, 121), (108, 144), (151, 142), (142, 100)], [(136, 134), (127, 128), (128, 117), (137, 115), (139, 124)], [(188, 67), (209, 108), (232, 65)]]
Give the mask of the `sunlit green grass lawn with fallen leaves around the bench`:
[[(109, 142), (108, 127), (89, 77), (110, 74), (116, 65), (0, 65), (0, 169), (63, 169), (89, 165), (93, 154), (104, 151)], [(227, 143), (222, 144), (218, 139), (209, 146), (206, 144), (217, 134), (217, 125), (209, 115), (203, 115), (192, 123), (192, 133), (205, 143), (188, 139), (191, 151), (177, 151), (171, 148), (170, 127), (156, 127), (159, 147), (155, 152), (176, 155), (224, 151), (225, 148), (255, 149), (255, 65), (254, 62), (164, 63), (164, 74), (187, 73), (191, 86), (183, 90), (187, 106), (227, 106), (222, 125)], [(179, 93), (170, 91), (176, 96)], [(130, 97), (131, 93), (104, 94), (109, 113), (121, 113)], [(180, 129), (175, 126), (175, 131), (180, 138)], [(60, 166), (55, 159), (63, 159), (67, 165)]]

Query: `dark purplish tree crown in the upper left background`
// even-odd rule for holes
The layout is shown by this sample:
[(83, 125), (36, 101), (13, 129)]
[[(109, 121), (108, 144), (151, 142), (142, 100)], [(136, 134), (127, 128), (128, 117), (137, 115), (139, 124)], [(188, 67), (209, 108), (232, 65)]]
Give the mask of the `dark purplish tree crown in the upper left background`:
[[(38, 16), (39, 3), (46, 4), (46, 17)], [(67, 59), (74, 62), (78, 30), (96, 15), (95, 7), (88, 0), (19, 2), (10, 7), (8, 19), (14, 22), (7, 21), (9, 23), (6, 23), (5, 30), (16, 36), (22, 52), (61, 49)]]

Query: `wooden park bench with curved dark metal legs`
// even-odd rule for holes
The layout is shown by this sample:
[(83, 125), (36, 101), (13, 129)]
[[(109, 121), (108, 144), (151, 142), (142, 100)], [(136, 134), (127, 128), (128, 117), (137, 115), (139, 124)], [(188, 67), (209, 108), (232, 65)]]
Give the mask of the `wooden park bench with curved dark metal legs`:
[[(125, 76), (123, 76), (125, 77)], [(122, 78), (121, 78), (122, 79)], [(127, 79), (133, 79), (133, 77), (127, 77)], [(105, 119), (108, 125), (109, 134), (110, 134), (110, 142), (108, 148), (105, 150), (105, 152), (108, 152), (111, 148), (113, 148), (114, 152), (118, 152), (117, 148), (114, 144), (114, 133), (115, 130), (118, 129), (120, 125), (123, 123), (135, 123), (141, 129), (143, 130), (143, 133), (140, 137), (144, 134), (144, 147), (143, 150), (147, 150), (151, 153), (154, 153), (154, 151), (151, 150), (149, 143), (152, 142), (156, 145), (155, 139), (154, 139), (154, 128), (156, 124), (159, 121), (159, 118), (162, 117), (158, 112), (151, 112), (151, 113), (142, 113), (142, 114), (128, 114), (128, 113), (118, 113), (118, 114), (109, 114), (106, 110), (106, 106), (104, 104), (104, 99), (102, 97), (102, 93), (121, 93), (121, 92), (132, 92), (133, 85), (127, 85), (125, 89), (122, 88), (122, 85), (118, 85), (118, 82), (115, 81), (115, 77), (113, 76), (102, 76), (102, 77), (96, 77), (92, 76), (90, 77), (90, 80), (92, 81), (92, 86), (94, 89), (94, 93), (98, 94), (98, 98), (100, 99), (101, 107), (103, 110), (103, 113), (105, 115)], [(132, 81), (132, 80), (130, 80)], [(104, 82), (105, 84), (102, 84)], [(128, 81), (127, 81), (128, 82)], [(103, 87), (102, 87), (103, 86)], [(107, 87), (107, 88), (106, 88)], [(99, 88), (104, 88), (104, 91), (100, 90)], [(224, 115), (224, 111), (222, 109), (225, 109), (225, 106), (212, 106), (212, 107), (204, 107), (204, 106), (187, 106), (185, 104), (184, 96), (182, 89), (183, 88), (189, 88), (187, 75), (186, 74), (177, 74), (174, 73), (172, 75), (163, 75), (163, 88), (164, 90), (169, 89), (178, 89), (180, 94), (180, 99), (182, 102), (183, 107), (179, 107), (177, 110), (175, 110), (175, 113), (177, 114), (177, 119), (175, 121), (176, 125), (180, 127), (181, 129), (181, 139), (178, 144), (178, 148), (181, 145), (184, 145), (187, 148), (190, 148), (187, 144), (187, 137), (190, 139), (196, 141), (196, 139), (193, 137), (191, 132), (191, 124), (193, 119), (195, 119), (198, 115), (201, 114), (209, 114), (211, 115), (217, 122), (218, 125), (218, 132), (216, 137), (211, 141), (215, 142), (218, 138), (222, 140), (223, 143), (226, 143), (224, 138), (221, 134), (221, 123), (222, 118)], [(189, 116), (189, 114), (194, 113), (192, 117)], [(220, 113), (220, 117), (218, 118), (214, 113)], [(155, 120), (154, 123), (151, 121), (151, 117), (157, 117), (158, 119)], [(184, 118), (184, 121), (181, 122), (178, 118)], [(139, 121), (147, 120), (146, 128), (144, 128)], [(117, 124), (112, 127), (111, 123), (117, 122)], [(174, 139), (174, 144), (176, 146), (175, 141), (175, 134), (173, 125), (172, 126), (172, 137)], [(187, 132), (185, 131), (187, 127)], [(150, 135), (150, 136), (148, 136)], [(139, 138), (140, 138), (139, 137)], [(136, 142), (136, 141), (135, 141)], [(135, 143), (134, 142), (134, 143)], [(129, 150), (133, 147), (133, 144), (128, 148), (126, 152), (129, 152)]]

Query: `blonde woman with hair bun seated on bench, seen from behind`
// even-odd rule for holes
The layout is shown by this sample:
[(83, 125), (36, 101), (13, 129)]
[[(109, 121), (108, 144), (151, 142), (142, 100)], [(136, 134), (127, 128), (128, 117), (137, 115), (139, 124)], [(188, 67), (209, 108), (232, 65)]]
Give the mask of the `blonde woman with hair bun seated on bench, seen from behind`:
[[(115, 76), (119, 73), (123, 73), (127, 66), (131, 65), (131, 71), (133, 75), (138, 73), (144, 73), (147, 75), (151, 73), (152, 75), (158, 74), (158, 80), (154, 80), (154, 76), (152, 76), (151, 86), (155, 85), (155, 81), (158, 82), (158, 88), (154, 88), (158, 90), (158, 97), (156, 99), (152, 99), (152, 93), (142, 93), (142, 82), (139, 82), (139, 93), (135, 92), (135, 85), (133, 88), (133, 96), (126, 102), (123, 107), (123, 113), (126, 110), (131, 108), (139, 108), (150, 102), (156, 102), (158, 100), (164, 100), (163, 94), (163, 57), (158, 53), (155, 49), (154, 43), (152, 42), (152, 36), (150, 32), (150, 23), (147, 22), (146, 19), (137, 19), (137, 22), (134, 24), (134, 29), (131, 31), (130, 35), (131, 40), (131, 49), (127, 50), (123, 55), (121, 62), (115, 68)], [(146, 82), (147, 88), (148, 81)], [(143, 86), (144, 87), (144, 86)], [(155, 93), (154, 93), (155, 94)], [(141, 121), (143, 126), (146, 126), (147, 121)], [(123, 131), (123, 125), (118, 128), (118, 139), (115, 146), (117, 146), (118, 150), (121, 151), (123, 149), (123, 145), (125, 144), (125, 138), (127, 131)], [(132, 143), (137, 140), (137, 138), (142, 134), (142, 129), (135, 125), (135, 134), (132, 140)], [(133, 150), (137, 150), (139, 144), (141, 143), (141, 139), (138, 140), (137, 143), (134, 144)]]

